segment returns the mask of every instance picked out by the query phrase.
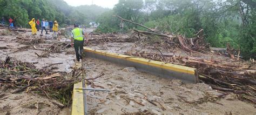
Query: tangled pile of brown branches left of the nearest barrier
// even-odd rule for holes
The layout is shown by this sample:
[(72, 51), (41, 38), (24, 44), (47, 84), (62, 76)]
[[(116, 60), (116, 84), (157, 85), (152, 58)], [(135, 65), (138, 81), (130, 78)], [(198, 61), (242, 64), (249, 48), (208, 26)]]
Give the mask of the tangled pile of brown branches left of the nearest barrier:
[(69, 105), (73, 84), (82, 80), (77, 76), (81, 71), (70, 73), (52, 72), (51, 70), (37, 70), (32, 63), (24, 63), (14, 58), (6, 57), (0, 62), (0, 94), (9, 89), (16, 89), (12, 93), (36, 91), (48, 98), (59, 100), (64, 105)]

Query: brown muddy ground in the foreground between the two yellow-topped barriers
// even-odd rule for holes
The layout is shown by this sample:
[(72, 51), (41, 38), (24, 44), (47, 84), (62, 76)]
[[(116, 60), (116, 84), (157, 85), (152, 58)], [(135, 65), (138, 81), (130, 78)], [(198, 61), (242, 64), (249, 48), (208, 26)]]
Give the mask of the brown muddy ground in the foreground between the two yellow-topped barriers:
[[(103, 60), (87, 58), (85, 67), (88, 78), (105, 73), (93, 81), (95, 88), (110, 89), (106, 92), (87, 92), (88, 112), (91, 114), (124, 114), (124, 113), (174, 113), (174, 114), (253, 114), (256, 109), (252, 104), (239, 100), (220, 99), (217, 103), (200, 102), (206, 93), (220, 94), (204, 83), (186, 84), (180, 80), (163, 79), (134, 68), (120, 66)], [(152, 100), (156, 105), (148, 102)], [(143, 105), (140, 105), (139, 102)], [(190, 103), (188, 103), (190, 102)], [(222, 105), (220, 105), (222, 104)], [(235, 106), (239, 105), (239, 106)]]

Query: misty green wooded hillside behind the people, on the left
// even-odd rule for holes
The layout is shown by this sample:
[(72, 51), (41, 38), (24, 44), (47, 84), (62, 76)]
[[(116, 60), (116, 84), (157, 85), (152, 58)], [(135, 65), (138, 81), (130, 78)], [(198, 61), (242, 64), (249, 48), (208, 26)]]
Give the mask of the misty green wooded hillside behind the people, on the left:
[(22, 27), (29, 27), (28, 22), (32, 18), (57, 20), (60, 26), (87, 24), (109, 10), (97, 5), (73, 7), (63, 0), (0, 0), (0, 17), (4, 17), (6, 24), (10, 17), (16, 18), (15, 25)]

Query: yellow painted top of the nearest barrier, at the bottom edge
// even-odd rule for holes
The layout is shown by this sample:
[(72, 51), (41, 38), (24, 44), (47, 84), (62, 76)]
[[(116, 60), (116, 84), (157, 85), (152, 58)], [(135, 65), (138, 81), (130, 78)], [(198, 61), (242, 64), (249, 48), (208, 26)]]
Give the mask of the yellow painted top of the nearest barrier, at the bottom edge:
[(83, 87), (82, 82), (74, 84), (73, 87), (73, 103), (72, 103), (72, 115), (84, 115), (84, 97), (83, 90), (77, 90), (79, 87)]

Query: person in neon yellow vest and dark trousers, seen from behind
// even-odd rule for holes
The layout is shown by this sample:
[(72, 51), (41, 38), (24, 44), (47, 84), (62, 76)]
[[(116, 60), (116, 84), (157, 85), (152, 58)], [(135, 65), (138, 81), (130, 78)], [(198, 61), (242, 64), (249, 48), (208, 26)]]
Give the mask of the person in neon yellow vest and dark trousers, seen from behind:
[(82, 59), (82, 53), (84, 50), (84, 38), (86, 39), (87, 43), (87, 34), (82, 29), (78, 28), (78, 24), (74, 24), (74, 29), (72, 30), (71, 46), (75, 47), (77, 62), (80, 62), (80, 59)]

